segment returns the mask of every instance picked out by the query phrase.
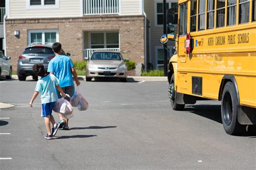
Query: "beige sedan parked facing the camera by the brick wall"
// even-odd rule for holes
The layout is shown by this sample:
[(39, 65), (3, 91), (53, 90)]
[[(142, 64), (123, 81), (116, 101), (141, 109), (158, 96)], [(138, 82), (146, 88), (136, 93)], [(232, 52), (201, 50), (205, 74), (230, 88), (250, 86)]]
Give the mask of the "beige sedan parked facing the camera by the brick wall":
[(87, 61), (86, 81), (97, 77), (116, 77), (127, 81), (127, 67), (120, 52), (95, 51)]

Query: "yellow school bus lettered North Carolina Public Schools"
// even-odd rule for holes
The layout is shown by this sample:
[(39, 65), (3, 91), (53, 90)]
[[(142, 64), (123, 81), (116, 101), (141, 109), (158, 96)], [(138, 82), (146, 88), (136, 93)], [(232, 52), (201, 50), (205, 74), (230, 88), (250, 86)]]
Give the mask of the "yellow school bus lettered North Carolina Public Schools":
[(226, 133), (255, 128), (256, 1), (179, 0), (177, 33), (170, 31), (173, 11), (160, 38), (176, 41), (167, 73), (172, 109), (218, 100)]

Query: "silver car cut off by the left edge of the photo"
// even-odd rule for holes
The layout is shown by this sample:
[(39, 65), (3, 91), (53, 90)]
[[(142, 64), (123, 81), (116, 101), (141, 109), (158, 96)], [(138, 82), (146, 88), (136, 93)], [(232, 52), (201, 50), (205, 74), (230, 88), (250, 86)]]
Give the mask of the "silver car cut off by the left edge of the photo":
[(9, 60), (10, 56), (6, 57), (2, 51), (0, 51), (0, 76), (5, 76), (6, 79), (11, 79), (12, 67)]

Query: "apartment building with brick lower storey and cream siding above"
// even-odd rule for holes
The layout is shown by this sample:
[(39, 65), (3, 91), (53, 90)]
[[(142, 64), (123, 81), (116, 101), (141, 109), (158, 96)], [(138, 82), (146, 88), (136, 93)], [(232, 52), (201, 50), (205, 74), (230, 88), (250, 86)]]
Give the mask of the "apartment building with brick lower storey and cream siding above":
[[(176, 4), (167, 0), (167, 8)], [(139, 68), (152, 63), (163, 69), (163, 0), (5, 0), (5, 5), (5, 49), (14, 69), (26, 46), (56, 41), (72, 60), (109, 49)]]

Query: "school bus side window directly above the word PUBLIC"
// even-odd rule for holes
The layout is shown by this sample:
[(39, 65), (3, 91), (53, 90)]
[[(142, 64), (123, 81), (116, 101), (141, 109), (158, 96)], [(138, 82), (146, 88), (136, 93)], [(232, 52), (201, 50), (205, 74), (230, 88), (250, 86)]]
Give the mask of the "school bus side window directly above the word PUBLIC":
[(237, 23), (237, 0), (227, 0), (227, 25)]

